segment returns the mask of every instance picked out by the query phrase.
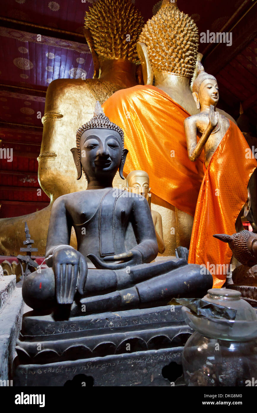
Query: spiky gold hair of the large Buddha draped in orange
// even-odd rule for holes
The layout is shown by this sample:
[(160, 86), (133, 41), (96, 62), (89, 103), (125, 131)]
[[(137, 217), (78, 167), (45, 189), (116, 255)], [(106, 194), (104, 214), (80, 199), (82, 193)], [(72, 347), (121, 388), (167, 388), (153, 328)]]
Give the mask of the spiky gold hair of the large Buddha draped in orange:
[(147, 45), (149, 59), (159, 71), (190, 78), (198, 53), (198, 28), (188, 14), (167, 4), (145, 24), (139, 42)]

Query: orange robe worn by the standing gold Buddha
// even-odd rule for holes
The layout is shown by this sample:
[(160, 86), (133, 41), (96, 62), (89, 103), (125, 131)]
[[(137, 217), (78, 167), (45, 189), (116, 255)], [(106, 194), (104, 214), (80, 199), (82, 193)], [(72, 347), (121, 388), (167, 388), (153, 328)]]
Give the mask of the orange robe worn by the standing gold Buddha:
[(207, 169), (203, 164), (205, 175), (196, 205), (188, 262), (210, 268), (214, 288), (224, 284), (232, 252), (227, 243), (212, 235), (236, 232), (236, 218), (247, 200), (248, 181), (257, 166), (255, 159), (246, 159), (247, 149), (243, 134), (230, 122)]

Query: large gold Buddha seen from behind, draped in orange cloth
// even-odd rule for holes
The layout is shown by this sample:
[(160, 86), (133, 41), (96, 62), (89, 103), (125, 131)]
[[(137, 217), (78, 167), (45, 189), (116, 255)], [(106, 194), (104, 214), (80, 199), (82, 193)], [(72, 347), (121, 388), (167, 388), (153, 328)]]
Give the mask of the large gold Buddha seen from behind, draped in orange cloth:
[(129, 150), (124, 173), (140, 169), (151, 176), (168, 256), (178, 246), (189, 248), (203, 179), (203, 158), (190, 162), (184, 133), (184, 119), (199, 112), (190, 89), (198, 40), (193, 19), (164, 0), (137, 43), (145, 85), (118, 90), (103, 106), (111, 121), (123, 125)]

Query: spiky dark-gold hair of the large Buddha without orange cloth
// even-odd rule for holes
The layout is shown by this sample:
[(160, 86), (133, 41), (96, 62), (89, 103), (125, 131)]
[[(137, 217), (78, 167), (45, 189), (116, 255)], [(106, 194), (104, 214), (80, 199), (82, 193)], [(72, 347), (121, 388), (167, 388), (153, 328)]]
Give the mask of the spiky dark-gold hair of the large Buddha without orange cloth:
[(85, 28), (90, 30), (98, 55), (127, 58), (136, 64), (140, 63), (137, 41), (143, 24), (141, 13), (130, 0), (99, 0), (85, 15)]

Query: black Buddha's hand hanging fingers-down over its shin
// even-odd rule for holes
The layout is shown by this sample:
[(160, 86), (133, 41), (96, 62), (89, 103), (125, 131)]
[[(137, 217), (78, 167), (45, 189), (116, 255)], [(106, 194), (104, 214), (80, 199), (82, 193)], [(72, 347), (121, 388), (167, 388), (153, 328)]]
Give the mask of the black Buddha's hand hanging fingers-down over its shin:
[(87, 262), (80, 252), (63, 248), (54, 252), (53, 270), (58, 304), (72, 304), (75, 293), (83, 295)]

